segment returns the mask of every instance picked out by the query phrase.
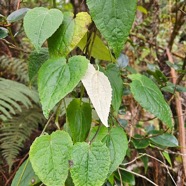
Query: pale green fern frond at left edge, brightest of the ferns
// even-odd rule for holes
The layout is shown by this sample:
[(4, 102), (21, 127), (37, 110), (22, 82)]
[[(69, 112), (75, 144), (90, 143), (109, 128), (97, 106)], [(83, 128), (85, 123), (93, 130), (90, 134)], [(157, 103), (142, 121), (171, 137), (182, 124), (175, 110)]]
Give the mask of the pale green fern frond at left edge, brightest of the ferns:
[(38, 93), (34, 89), (0, 78), (0, 120), (11, 119), (16, 114), (15, 110), (22, 112), (22, 105), (30, 108), (33, 103), (39, 104)]

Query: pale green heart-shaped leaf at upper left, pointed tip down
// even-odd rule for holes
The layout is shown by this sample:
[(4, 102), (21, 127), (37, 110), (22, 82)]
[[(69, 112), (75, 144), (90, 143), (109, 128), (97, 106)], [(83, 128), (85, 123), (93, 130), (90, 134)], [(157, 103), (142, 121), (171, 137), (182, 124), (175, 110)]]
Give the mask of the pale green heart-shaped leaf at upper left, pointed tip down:
[(24, 17), (26, 35), (38, 51), (42, 44), (59, 28), (63, 21), (60, 10), (36, 7)]

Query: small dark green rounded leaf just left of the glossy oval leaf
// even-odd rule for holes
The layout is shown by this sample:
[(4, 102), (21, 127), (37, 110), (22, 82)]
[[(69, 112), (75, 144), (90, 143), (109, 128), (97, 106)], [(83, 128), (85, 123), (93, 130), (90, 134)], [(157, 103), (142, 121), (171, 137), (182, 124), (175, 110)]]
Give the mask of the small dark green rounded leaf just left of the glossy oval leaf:
[(150, 144), (148, 139), (143, 138), (143, 136), (141, 136), (139, 134), (134, 135), (132, 142), (133, 142), (134, 147), (136, 149), (145, 149)]

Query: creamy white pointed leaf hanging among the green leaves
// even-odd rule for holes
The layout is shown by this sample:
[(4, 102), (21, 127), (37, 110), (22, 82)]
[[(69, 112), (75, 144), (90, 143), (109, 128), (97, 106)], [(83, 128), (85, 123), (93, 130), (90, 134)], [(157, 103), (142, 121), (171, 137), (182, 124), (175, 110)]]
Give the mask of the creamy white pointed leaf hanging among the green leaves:
[(101, 122), (108, 127), (108, 116), (112, 100), (112, 88), (108, 78), (89, 64), (82, 82)]

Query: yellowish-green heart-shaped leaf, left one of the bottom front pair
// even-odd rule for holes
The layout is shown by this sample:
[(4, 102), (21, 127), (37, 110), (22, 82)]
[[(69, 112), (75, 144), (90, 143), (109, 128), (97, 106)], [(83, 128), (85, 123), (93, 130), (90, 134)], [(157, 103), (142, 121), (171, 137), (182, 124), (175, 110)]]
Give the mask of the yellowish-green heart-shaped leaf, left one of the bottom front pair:
[(33, 142), (29, 152), (30, 162), (45, 185), (64, 185), (72, 145), (70, 136), (64, 131), (40, 136)]

